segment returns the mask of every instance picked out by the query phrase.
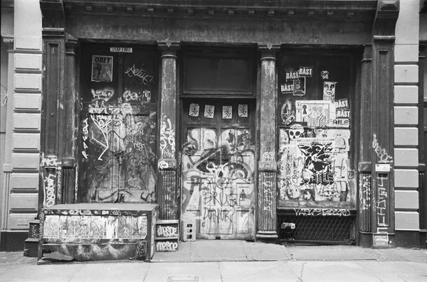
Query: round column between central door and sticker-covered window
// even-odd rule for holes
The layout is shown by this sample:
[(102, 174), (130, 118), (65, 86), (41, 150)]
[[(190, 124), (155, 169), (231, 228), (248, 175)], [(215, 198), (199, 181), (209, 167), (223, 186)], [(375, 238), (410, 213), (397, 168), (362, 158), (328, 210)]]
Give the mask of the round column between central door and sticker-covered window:
[(275, 55), (278, 45), (258, 45), (261, 52), (260, 68), (260, 161), (258, 165), (258, 228), (256, 239), (275, 242), (276, 232), (276, 108), (278, 83)]

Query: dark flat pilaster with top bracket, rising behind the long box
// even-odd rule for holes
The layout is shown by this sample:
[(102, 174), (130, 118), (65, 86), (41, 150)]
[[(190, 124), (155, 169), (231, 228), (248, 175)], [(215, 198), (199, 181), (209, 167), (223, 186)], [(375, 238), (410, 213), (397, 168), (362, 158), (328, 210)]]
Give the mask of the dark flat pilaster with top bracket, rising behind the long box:
[(43, 14), (43, 99), (39, 207), (62, 202), (65, 20), (62, 1), (40, 1)]

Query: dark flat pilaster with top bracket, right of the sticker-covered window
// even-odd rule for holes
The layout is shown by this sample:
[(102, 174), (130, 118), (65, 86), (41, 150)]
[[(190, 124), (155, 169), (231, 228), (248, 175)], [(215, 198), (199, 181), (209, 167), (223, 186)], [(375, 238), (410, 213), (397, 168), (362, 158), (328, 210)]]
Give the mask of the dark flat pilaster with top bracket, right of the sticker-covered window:
[(378, 1), (372, 41), (372, 244), (394, 243), (394, 40), (399, 1)]

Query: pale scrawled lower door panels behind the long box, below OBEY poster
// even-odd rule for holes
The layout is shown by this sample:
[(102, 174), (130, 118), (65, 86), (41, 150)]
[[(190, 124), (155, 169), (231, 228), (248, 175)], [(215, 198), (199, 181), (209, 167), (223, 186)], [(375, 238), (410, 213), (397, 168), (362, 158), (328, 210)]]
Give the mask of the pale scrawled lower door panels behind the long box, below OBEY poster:
[(154, 109), (90, 107), (82, 124), (85, 202), (154, 202)]

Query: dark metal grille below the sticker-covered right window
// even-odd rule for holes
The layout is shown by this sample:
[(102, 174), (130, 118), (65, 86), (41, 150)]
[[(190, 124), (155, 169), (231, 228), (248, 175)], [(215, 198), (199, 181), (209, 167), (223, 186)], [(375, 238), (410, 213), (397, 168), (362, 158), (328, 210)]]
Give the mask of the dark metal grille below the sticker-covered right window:
[[(282, 229), (282, 223), (294, 223), (295, 229)], [(278, 233), (282, 242), (355, 244), (356, 217), (278, 216)]]

